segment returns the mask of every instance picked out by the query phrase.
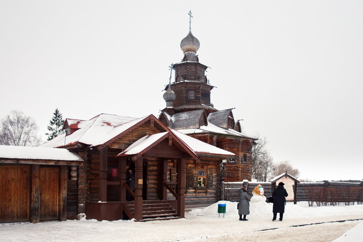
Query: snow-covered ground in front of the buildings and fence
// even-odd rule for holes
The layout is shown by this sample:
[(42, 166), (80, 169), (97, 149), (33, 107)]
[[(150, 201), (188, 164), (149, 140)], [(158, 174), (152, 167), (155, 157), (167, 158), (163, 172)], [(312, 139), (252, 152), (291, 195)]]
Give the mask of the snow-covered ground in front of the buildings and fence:
[[(219, 203), (226, 213), (217, 213)], [(65, 222), (3, 223), (0, 241), (317, 241), (363, 242), (363, 205), (308, 207), (288, 203), (283, 221), (272, 221), (272, 204), (251, 203), (248, 221), (239, 221), (237, 203), (220, 201), (168, 221), (68, 220)], [(345, 222), (333, 222), (351, 220)], [(317, 223), (317, 224), (311, 224)], [(306, 225), (311, 224), (311, 225)], [(305, 225), (305, 226), (295, 226)]]

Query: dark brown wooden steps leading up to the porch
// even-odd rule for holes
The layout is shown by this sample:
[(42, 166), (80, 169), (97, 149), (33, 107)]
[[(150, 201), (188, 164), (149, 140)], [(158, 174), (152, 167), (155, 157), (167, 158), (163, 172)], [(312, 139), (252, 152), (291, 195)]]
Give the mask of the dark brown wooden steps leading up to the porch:
[[(132, 215), (135, 214), (135, 204), (130, 202), (126, 208)], [(172, 206), (164, 200), (147, 200), (142, 203), (142, 220), (136, 222), (146, 222), (155, 220), (171, 220), (177, 219), (178, 214)]]

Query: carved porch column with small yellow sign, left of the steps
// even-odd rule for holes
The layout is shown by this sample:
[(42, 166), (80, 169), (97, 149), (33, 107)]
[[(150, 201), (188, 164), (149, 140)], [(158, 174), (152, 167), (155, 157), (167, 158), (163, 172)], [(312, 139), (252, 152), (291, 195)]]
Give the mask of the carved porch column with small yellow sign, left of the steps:
[(142, 220), (142, 156), (135, 160), (135, 220)]

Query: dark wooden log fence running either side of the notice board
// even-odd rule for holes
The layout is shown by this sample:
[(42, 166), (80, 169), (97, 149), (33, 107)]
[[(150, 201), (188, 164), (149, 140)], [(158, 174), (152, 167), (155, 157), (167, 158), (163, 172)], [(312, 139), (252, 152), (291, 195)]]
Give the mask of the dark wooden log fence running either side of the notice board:
[[(272, 194), (271, 182), (223, 182), (222, 189), (224, 190), (224, 193), (222, 196), (222, 200), (237, 202), (238, 191), (240, 190), (242, 185), (248, 186), (248, 193), (252, 195), (252, 190), (258, 184), (261, 184), (264, 187), (265, 190), (264, 196), (266, 198), (271, 196)], [(297, 201), (322, 202), (318, 200), (324, 200), (325, 202), (331, 205), (335, 205), (334, 202), (362, 203), (363, 181), (359, 182), (322, 181), (322, 182), (298, 183)]]

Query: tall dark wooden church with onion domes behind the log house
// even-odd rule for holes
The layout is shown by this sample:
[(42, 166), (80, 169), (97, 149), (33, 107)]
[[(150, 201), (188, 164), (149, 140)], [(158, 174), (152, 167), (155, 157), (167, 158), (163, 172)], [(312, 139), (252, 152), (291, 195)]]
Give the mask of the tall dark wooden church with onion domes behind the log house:
[(184, 57), (181, 62), (171, 66), (175, 70), (175, 80), (172, 83), (169, 81), (165, 88), (163, 97), (166, 107), (159, 120), (183, 134), (233, 152), (236, 157), (225, 163), (224, 181), (250, 181), (251, 153), (257, 138), (241, 133), (241, 123), (235, 121), (233, 108), (214, 108), (211, 102), (213, 86), (205, 75), (208, 67), (201, 64), (196, 55), (199, 46), (199, 40), (191, 32), (189, 20), (189, 33), (180, 42)]

